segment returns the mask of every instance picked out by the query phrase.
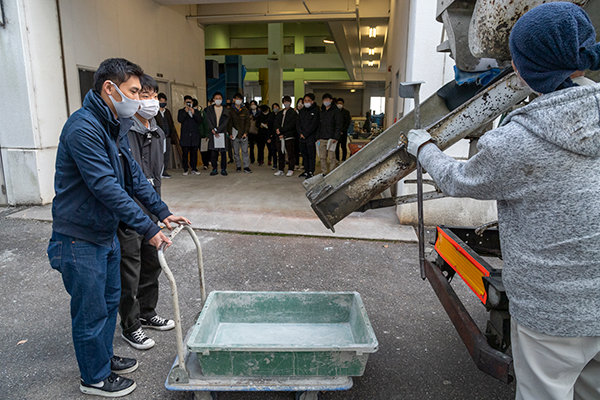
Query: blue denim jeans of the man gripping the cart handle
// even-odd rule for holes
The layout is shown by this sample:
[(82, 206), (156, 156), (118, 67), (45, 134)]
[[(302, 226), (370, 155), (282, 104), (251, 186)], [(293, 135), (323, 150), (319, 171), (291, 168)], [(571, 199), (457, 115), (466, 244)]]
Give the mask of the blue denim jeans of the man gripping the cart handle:
[(115, 235), (112, 245), (103, 247), (53, 232), (48, 258), (71, 295), (73, 344), (81, 379), (98, 383), (110, 375), (113, 356), (121, 296), (119, 241)]

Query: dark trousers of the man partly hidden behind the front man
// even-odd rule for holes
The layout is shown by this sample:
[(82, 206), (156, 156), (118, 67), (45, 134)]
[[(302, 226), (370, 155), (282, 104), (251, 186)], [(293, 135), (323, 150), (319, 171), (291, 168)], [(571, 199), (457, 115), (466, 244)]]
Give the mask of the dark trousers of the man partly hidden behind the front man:
[(158, 252), (144, 236), (132, 229), (117, 231), (121, 243), (121, 302), (119, 315), (124, 333), (142, 327), (140, 317), (156, 315), (158, 302)]

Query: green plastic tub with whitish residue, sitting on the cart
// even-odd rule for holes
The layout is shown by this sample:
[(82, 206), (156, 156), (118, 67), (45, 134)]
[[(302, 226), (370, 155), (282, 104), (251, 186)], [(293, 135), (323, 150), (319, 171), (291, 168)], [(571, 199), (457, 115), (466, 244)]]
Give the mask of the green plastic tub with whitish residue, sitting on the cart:
[(356, 292), (212, 292), (188, 349), (206, 376), (361, 376), (377, 338)]

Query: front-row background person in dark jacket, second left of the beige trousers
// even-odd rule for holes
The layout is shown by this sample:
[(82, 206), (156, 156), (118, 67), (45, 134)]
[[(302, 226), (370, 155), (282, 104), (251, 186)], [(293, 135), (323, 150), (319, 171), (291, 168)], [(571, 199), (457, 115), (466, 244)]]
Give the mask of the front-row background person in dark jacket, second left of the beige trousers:
[(275, 175), (283, 175), (285, 170), (285, 157), (288, 158), (288, 172), (286, 176), (294, 175), (294, 167), (296, 166), (296, 121), (298, 114), (292, 108), (292, 98), (283, 96), (283, 111), (275, 118), (275, 133), (277, 135), (277, 151), (278, 151), (278, 170)]

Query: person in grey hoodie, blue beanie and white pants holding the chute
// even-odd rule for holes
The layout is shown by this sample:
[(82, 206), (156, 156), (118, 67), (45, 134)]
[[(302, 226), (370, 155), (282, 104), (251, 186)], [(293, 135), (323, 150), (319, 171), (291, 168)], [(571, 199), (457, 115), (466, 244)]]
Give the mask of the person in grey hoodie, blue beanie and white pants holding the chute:
[(510, 49), (540, 96), (487, 132), (467, 162), (425, 130), (408, 135), (444, 193), (498, 202), (519, 400), (600, 399), (600, 85), (571, 79), (600, 69), (595, 38), (578, 6), (533, 8)]

